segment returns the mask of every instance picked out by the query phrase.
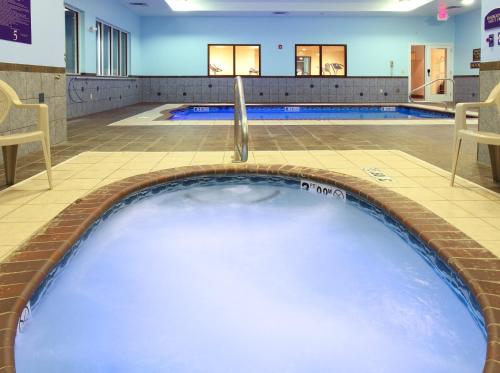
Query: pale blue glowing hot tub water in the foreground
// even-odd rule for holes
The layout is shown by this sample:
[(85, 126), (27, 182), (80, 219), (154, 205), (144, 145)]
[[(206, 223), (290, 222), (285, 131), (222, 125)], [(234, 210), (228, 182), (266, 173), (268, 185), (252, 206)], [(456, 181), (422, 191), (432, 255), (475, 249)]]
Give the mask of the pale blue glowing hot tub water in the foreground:
[(141, 192), (64, 263), (31, 301), (18, 373), (461, 373), (485, 360), (481, 316), (443, 263), (366, 203), (296, 180)]

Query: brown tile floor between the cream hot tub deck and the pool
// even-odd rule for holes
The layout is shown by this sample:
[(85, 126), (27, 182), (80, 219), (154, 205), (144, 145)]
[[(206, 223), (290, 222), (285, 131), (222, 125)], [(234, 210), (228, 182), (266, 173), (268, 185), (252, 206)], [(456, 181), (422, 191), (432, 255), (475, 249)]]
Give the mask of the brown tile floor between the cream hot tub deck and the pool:
[[(82, 152), (224, 152), (232, 149), (233, 128), (224, 125), (110, 126), (159, 105), (140, 104), (68, 122), (68, 141), (52, 148), (55, 165)], [(258, 125), (250, 128), (250, 149), (258, 152), (396, 149), (442, 169), (451, 166), (452, 125)], [(278, 159), (280, 157), (278, 156)], [(42, 171), (41, 152), (21, 158), (18, 180)], [(488, 166), (476, 162), (476, 146), (463, 145), (458, 174), (500, 192)], [(0, 180), (3, 180), (0, 169)], [(0, 189), (4, 188), (0, 183)]]

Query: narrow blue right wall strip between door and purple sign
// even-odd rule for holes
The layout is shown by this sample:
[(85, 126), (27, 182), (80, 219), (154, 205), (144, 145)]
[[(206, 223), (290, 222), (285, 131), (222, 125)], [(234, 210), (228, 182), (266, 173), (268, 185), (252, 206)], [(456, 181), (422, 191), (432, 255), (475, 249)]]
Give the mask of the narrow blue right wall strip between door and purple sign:
[(479, 75), (471, 69), (472, 50), (481, 48), (481, 9), (453, 18), (455, 23), (455, 75)]

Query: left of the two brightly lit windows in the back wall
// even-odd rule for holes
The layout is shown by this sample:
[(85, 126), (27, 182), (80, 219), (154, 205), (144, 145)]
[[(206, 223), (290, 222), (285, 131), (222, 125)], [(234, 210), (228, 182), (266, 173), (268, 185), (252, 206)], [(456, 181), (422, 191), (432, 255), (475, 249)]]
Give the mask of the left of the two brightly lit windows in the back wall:
[(209, 45), (208, 75), (260, 76), (260, 45)]

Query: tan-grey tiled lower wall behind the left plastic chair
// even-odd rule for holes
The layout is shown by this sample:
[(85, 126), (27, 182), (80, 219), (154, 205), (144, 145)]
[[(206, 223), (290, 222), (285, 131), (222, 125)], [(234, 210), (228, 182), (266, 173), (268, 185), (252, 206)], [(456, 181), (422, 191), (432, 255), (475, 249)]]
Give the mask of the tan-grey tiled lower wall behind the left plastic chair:
[[(32, 70), (37, 69), (32, 68)], [(46, 70), (56, 69), (47, 68)], [(66, 76), (64, 72), (0, 70), (0, 80), (10, 85), (22, 102), (47, 104), (52, 145), (66, 140)], [(12, 108), (10, 115), (0, 124), (0, 136), (34, 131), (37, 119), (38, 115), (35, 110)], [(21, 144), (18, 155), (23, 156), (40, 150), (39, 142)], [(2, 157), (0, 157), (0, 163), (3, 164)]]

